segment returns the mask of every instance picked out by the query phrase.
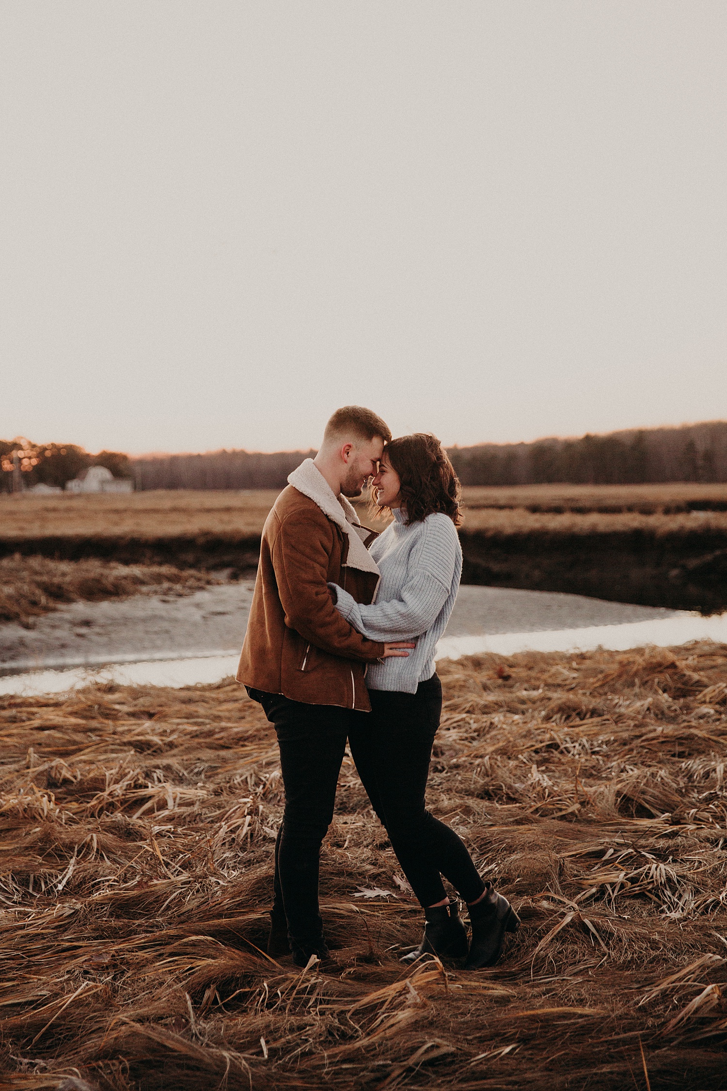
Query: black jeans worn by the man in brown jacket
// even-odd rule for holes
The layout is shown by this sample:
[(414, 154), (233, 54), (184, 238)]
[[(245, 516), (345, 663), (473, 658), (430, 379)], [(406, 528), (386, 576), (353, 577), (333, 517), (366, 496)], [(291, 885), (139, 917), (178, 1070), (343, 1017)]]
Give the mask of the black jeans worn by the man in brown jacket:
[(275, 727), (286, 790), (275, 846), (274, 911), (284, 907), (291, 944), (310, 952), (323, 938), (320, 842), (334, 816), (338, 775), (355, 714), (336, 705), (304, 705), (281, 694), (247, 692)]

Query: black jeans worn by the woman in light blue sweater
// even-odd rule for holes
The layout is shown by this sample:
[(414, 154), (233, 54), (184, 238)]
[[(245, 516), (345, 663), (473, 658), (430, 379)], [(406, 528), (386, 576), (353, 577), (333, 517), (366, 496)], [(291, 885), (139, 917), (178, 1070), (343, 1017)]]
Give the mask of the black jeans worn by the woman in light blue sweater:
[(441, 715), (434, 674), (416, 693), (369, 690), (371, 712), (353, 712), (351, 754), (374, 811), (422, 906), (446, 897), (444, 875), (465, 901), (485, 889), (457, 834), (424, 804), (432, 745)]

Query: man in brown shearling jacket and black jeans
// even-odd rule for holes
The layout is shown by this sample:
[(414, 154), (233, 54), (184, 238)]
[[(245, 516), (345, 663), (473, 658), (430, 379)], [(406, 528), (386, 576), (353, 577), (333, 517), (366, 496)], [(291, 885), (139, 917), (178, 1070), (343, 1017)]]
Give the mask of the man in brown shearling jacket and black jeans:
[(328, 956), (318, 908), (320, 843), (334, 814), (352, 710), (371, 711), (366, 664), (410, 644), (367, 640), (338, 613), (328, 584), (371, 603), (378, 568), (371, 532), (346, 497), (359, 496), (391, 439), (361, 406), (337, 409), (320, 451), (294, 470), (260, 542), (238, 681), (274, 724), (286, 807), (275, 847), (268, 951), (296, 966)]

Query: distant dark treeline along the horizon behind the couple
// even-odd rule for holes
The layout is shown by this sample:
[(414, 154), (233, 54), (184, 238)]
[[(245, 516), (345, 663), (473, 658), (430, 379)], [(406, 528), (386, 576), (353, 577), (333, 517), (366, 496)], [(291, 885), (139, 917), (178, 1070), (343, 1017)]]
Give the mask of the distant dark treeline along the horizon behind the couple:
[[(0, 441), (0, 490), (12, 490), (13, 454), (23, 483), (63, 485), (87, 466), (107, 466), (133, 477), (137, 489), (282, 489), (288, 475), (314, 451), (215, 451), (204, 455), (128, 458), (102, 451), (89, 455), (73, 444)], [(646, 484), (727, 481), (727, 421), (584, 435), (535, 443), (481, 443), (450, 447), (462, 484)]]

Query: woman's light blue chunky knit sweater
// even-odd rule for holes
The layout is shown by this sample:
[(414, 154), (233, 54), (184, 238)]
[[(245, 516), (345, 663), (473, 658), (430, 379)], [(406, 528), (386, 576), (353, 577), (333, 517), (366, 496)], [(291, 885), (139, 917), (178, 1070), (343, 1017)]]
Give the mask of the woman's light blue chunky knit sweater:
[(434, 674), (434, 649), (457, 598), (462, 575), (459, 536), (447, 515), (435, 513), (410, 525), (397, 508), (371, 554), (381, 574), (376, 602), (362, 606), (331, 584), (336, 609), (372, 640), (416, 640), (407, 658), (372, 663), (366, 673), (369, 690), (416, 693), (419, 683)]

